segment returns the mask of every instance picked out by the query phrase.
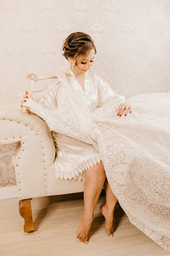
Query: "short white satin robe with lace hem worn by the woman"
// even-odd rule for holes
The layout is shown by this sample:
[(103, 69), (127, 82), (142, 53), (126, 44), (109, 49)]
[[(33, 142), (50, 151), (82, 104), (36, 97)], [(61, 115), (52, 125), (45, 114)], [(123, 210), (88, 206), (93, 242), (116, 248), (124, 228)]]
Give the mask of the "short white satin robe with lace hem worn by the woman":
[[(115, 103), (126, 102), (124, 96), (113, 91), (109, 84), (95, 72), (88, 70), (85, 73), (85, 91), (83, 91), (70, 68), (65, 72), (71, 74), (71, 76), (67, 77), (69, 85), (72, 86), (78, 94), (83, 95), (90, 111), (101, 106), (106, 106), (112, 102), (113, 105)], [(48, 83), (45, 89), (51, 87), (51, 84)], [(48, 94), (37, 101), (37, 103), (49, 110), (63, 108), (67, 102), (65, 101), (62, 83), (58, 84)], [(52, 138), (56, 146), (55, 168), (57, 179), (84, 180), (85, 170), (92, 167), (94, 164), (100, 163), (100, 154), (93, 145), (55, 131), (52, 131)]]

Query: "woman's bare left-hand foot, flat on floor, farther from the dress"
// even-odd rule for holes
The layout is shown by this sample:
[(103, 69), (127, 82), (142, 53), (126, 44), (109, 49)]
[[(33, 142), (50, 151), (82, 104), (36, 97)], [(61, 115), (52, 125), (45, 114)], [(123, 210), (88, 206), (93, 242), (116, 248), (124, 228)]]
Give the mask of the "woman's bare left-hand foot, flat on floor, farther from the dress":
[(88, 234), (92, 225), (93, 217), (87, 216), (82, 212), (80, 226), (77, 230), (76, 237), (85, 244), (88, 243)]

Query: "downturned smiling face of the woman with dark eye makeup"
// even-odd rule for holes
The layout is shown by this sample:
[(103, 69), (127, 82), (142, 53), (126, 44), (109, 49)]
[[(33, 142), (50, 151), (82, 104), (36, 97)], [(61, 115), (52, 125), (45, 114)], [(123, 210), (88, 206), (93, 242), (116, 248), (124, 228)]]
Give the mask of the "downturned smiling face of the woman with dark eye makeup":
[[(88, 69), (93, 65), (93, 60), (95, 57), (95, 49), (91, 49), (89, 54), (86, 56), (85, 59), (81, 59), (80, 61), (77, 62), (77, 66), (75, 67), (75, 70), (77, 71), (77, 74), (84, 74), (87, 72)], [(75, 58), (70, 59), (71, 65), (71, 71), (74, 71), (74, 66), (75, 66)], [(75, 71), (74, 71), (75, 72)]]

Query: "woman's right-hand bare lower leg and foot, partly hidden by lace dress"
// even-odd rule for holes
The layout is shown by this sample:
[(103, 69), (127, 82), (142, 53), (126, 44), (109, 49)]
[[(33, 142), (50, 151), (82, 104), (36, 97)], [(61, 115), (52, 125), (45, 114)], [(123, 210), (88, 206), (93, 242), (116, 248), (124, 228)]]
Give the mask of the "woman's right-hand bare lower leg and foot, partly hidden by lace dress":
[(117, 203), (117, 198), (112, 192), (112, 189), (107, 181), (107, 178), (104, 183), (105, 192), (106, 192), (106, 203), (100, 206), (100, 211), (105, 217), (105, 229), (109, 237), (113, 237), (114, 234), (114, 211)]

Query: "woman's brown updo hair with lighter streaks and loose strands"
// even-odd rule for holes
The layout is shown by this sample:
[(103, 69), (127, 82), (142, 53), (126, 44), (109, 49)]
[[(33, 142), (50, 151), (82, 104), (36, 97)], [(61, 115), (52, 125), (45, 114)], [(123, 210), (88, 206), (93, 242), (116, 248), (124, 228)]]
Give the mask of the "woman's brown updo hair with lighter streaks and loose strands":
[[(65, 43), (63, 45), (63, 51), (62, 54), (67, 60), (68, 57), (74, 58), (75, 57), (75, 66), (77, 66), (78, 60), (84, 59), (91, 49), (95, 50), (96, 54), (96, 47), (94, 44), (94, 41), (91, 39), (91, 37), (88, 34), (85, 34), (83, 32), (74, 32), (71, 33), (66, 39)], [(75, 68), (75, 67), (74, 67)]]

